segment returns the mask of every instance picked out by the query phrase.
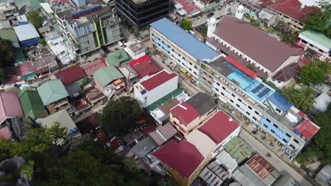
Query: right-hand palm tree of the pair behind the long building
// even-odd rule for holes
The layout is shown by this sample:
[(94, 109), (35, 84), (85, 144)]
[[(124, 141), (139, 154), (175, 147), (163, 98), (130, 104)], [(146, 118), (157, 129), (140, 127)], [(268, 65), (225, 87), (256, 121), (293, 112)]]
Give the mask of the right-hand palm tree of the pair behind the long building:
[(315, 102), (315, 94), (313, 89), (308, 87), (300, 92), (300, 96), (298, 97), (298, 106), (303, 112), (313, 109)]

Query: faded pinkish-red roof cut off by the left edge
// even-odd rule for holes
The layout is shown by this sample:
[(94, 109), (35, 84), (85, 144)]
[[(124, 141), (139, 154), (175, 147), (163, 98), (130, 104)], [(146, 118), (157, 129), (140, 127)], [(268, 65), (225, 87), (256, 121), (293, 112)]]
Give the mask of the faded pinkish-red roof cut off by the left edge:
[(21, 102), (15, 92), (0, 92), (0, 124), (6, 118), (23, 117)]

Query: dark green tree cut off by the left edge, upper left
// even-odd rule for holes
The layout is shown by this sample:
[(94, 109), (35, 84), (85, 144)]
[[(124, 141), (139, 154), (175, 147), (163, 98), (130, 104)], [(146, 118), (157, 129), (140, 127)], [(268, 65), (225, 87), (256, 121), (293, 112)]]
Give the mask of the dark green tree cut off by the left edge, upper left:
[(15, 50), (11, 41), (0, 38), (0, 68), (11, 66), (15, 60)]

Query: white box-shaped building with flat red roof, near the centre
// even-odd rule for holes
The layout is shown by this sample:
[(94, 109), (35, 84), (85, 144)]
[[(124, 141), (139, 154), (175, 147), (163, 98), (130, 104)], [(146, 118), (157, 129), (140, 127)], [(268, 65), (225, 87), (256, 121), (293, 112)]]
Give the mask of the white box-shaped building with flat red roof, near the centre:
[(153, 104), (166, 94), (173, 92), (178, 87), (178, 75), (167, 70), (141, 79), (134, 84), (134, 97), (142, 108)]

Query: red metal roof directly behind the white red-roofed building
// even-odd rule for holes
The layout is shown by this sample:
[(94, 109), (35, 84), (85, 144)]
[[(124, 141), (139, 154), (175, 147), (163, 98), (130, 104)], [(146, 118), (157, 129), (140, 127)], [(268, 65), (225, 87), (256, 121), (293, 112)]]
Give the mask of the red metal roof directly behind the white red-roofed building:
[(161, 70), (161, 68), (154, 61), (152, 61), (149, 56), (142, 56), (141, 58), (131, 61), (129, 66), (132, 66), (134, 71), (136, 71), (140, 77), (153, 75)]

